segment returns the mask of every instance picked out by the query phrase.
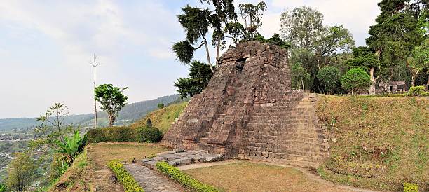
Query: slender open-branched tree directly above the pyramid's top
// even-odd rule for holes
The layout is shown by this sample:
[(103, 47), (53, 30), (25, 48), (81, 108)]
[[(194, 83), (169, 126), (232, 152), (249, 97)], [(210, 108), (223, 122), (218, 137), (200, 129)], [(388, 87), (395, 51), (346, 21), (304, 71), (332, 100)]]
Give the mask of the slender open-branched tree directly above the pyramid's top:
[(245, 21), (245, 29), (250, 34), (250, 39), (253, 40), (254, 34), (257, 32), (257, 28), (262, 25), (261, 16), (266, 10), (266, 4), (264, 1), (258, 4), (239, 4), (240, 16)]

